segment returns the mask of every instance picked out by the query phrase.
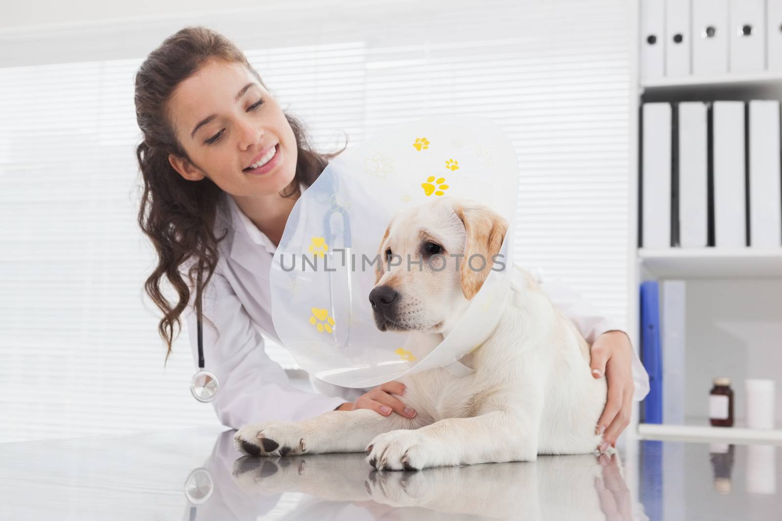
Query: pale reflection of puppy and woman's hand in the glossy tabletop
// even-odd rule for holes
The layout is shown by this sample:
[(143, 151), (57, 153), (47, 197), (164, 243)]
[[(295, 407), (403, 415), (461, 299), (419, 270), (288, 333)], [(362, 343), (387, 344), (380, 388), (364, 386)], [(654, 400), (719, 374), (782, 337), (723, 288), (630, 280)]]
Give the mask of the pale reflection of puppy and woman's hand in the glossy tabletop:
[[(416, 513), (420, 519), (432, 519), (437, 512), (495, 519), (633, 519), (618, 454), (370, 473), (359, 454), (244, 456), (234, 463), (233, 476), (250, 494), (314, 496), (302, 504), (308, 512), (317, 510), (318, 519), (329, 519), (327, 512), (339, 519), (346, 502), (375, 514), (387, 507), (416, 509), (405, 512), (416, 519)], [(300, 513), (291, 512), (290, 517), (306, 517)]]

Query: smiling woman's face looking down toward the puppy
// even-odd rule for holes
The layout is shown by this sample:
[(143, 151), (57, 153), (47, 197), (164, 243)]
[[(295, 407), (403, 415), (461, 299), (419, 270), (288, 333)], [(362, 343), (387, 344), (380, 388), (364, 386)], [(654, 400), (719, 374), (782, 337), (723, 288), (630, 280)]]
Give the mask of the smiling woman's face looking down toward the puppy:
[(235, 196), (278, 194), (291, 184), (296, 137), (277, 102), (241, 63), (206, 62), (174, 90), (168, 112), (190, 161), (168, 159), (185, 179), (209, 177)]

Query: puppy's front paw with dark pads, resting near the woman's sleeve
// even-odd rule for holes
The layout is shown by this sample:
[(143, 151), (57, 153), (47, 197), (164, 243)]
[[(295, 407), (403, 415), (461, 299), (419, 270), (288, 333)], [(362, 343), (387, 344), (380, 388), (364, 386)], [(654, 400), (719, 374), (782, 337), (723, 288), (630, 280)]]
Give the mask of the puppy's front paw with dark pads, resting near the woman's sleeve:
[(307, 451), (303, 430), (291, 422), (244, 426), (234, 434), (234, 446), (242, 454), (251, 456), (284, 456)]

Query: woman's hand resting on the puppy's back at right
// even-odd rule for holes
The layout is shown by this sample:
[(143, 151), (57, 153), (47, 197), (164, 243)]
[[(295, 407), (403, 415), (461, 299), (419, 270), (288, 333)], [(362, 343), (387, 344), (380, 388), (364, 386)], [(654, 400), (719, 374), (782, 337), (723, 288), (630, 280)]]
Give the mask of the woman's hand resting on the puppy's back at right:
[(592, 376), (602, 378), (605, 375), (608, 384), (608, 401), (603, 416), (597, 420), (597, 434), (603, 434), (601, 451), (609, 444), (616, 447), (619, 434), (630, 425), (635, 391), (630, 369), (631, 349), (630, 338), (623, 331), (612, 330), (597, 337), (590, 350)]

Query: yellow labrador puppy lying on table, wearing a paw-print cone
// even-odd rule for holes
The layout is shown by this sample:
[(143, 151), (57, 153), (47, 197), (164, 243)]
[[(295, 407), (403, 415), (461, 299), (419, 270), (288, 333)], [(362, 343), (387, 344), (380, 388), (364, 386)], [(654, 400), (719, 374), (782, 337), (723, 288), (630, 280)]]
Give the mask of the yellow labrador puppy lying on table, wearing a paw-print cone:
[[(377, 327), (410, 331), (417, 352), (435, 348), (488, 277), (507, 230), (496, 212), (462, 199), (398, 213), (382, 238), (378, 251), (386, 261), (369, 295)], [(479, 262), (455, 269), (458, 256), (475, 254), (489, 261), (485, 269), (472, 269)], [(394, 255), (424, 259), (423, 269), (407, 269)], [(474, 373), (430, 369), (400, 379), (406, 391), (397, 398), (418, 412), (414, 418), (357, 409), (260, 423), (235, 434), (236, 448), (249, 455), (367, 451), (371, 466), (390, 470), (595, 451), (605, 379), (591, 376), (589, 344), (573, 323), (534, 277), (514, 269), (517, 283), (526, 280), (526, 295), (518, 290), (523, 282), (511, 283), (497, 327), (461, 360)]]

